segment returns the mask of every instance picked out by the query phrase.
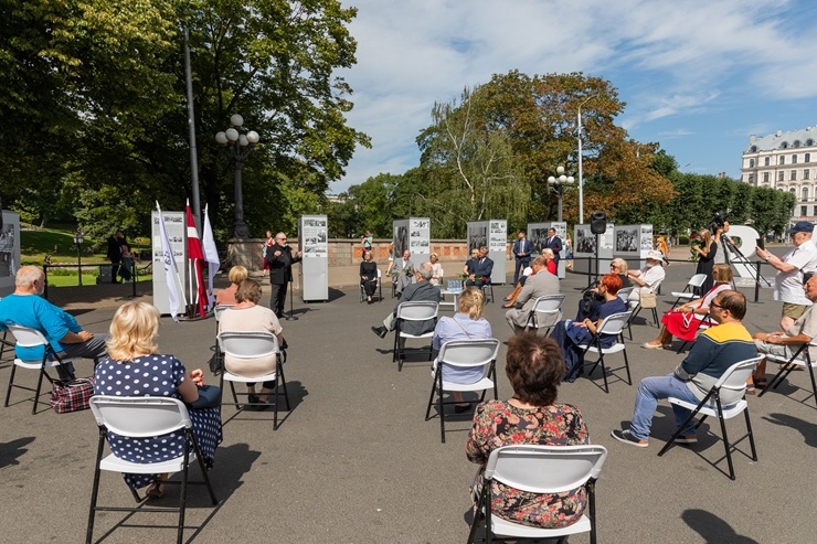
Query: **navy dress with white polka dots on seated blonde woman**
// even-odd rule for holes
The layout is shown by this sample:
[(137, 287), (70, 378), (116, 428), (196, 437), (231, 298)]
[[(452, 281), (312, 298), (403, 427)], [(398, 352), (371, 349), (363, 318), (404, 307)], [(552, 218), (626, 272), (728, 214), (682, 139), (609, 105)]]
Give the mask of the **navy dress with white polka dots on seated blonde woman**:
[[(104, 359), (96, 365), (95, 395), (109, 396), (166, 396), (179, 398), (177, 391), (187, 371), (173, 355), (146, 355), (132, 361), (118, 362)], [(208, 468), (212, 468), (215, 448), (221, 444), (221, 409), (190, 409), (193, 433)], [(150, 438), (129, 438), (107, 433), (110, 451), (130, 462), (161, 462), (184, 455), (184, 430)], [(155, 482), (159, 474), (124, 474), (132, 489)]]

